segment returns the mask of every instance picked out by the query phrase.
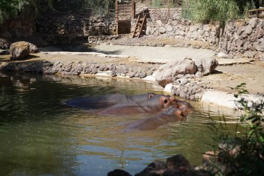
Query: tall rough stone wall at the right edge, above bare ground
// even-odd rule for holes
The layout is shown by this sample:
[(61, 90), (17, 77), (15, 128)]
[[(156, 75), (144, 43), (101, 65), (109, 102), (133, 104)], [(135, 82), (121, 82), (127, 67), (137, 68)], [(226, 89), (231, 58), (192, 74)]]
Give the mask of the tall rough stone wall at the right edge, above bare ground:
[(226, 24), (220, 40), (222, 56), (245, 56), (264, 61), (264, 21), (252, 18)]

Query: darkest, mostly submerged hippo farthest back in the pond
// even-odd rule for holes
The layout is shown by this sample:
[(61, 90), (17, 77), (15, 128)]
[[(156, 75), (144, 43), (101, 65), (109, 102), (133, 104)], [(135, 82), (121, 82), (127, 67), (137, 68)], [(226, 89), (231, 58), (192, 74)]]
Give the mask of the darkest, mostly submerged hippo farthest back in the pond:
[(154, 93), (144, 93), (139, 95), (108, 94), (69, 99), (65, 103), (68, 106), (81, 109), (101, 109), (103, 107), (113, 106), (115, 104), (140, 102), (154, 96), (156, 96)]

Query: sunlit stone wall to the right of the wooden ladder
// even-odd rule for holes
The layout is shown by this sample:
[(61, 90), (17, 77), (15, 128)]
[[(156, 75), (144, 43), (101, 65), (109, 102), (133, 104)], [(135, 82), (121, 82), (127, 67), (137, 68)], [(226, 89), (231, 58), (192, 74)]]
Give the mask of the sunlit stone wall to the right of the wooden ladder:
[[(199, 40), (217, 45), (220, 40), (220, 26), (211, 24), (194, 24), (181, 18), (180, 8), (149, 9), (146, 35), (160, 38), (176, 38), (183, 40)], [(135, 20), (132, 22), (132, 30)]]

